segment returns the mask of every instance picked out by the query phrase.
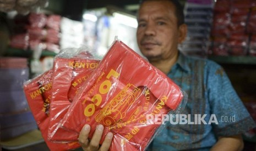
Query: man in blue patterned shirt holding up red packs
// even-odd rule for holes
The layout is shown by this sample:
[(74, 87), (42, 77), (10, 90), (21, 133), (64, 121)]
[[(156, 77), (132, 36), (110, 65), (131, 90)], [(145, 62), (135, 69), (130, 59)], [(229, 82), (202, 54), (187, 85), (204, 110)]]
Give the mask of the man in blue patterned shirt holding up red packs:
[[(140, 51), (152, 65), (187, 92), (188, 102), (181, 114), (201, 115), (206, 122), (214, 115), (217, 120), (215, 123), (168, 124), (148, 150), (242, 150), (241, 133), (254, 127), (255, 123), (219, 65), (184, 56), (178, 51), (178, 44), (187, 33), (183, 20), (183, 9), (176, 0), (143, 1), (138, 11)], [(89, 141), (90, 126), (84, 126), (79, 136), (84, 150), (108, 150), (113, 134), (108, 133), (99, 148), (103, 129), (99, 125)]]

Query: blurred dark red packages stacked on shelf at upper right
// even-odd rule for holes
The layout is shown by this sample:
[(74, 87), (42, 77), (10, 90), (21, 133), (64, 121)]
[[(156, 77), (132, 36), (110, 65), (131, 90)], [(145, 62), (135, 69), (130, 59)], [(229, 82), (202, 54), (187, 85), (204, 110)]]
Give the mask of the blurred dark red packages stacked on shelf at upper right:
[(216, 2), (209, 54), (255, 55), (255, 6), (253, 0)]

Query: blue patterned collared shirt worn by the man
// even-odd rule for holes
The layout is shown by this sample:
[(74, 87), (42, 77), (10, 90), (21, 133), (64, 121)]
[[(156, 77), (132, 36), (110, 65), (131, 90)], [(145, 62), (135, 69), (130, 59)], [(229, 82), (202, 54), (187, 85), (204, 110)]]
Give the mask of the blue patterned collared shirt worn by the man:
[[(255, 127), (224, 69), (217, 63), (179, 53), (168, 77), (188, 95), (186, 107), (179, 114), (189, 115), (195, 124), (167, 122), (148, 150), (209, 150), (217, 137), (238, 135)], [(206, 124), (204, 121), (199, 124), (200, 120), (196, 123), (199, 115)]]

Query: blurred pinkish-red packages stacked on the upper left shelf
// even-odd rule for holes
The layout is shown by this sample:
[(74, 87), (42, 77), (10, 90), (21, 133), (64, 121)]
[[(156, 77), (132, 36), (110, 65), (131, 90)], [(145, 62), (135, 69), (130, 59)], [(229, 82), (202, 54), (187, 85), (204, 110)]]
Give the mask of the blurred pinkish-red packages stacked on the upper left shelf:
[(35, 50), (41, 44), (43, 50), (59, 53), (61, 37), (61, 16), (30, 13), (27, 16), (14, 18), (14, 32), (10, 47)]

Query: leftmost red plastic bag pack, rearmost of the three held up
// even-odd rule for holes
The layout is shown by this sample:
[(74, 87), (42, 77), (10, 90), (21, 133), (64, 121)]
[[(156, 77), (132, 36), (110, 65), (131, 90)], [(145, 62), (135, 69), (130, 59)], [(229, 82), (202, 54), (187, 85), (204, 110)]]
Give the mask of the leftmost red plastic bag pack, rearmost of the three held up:
[(69, 150), (80, 147), (77, 141), (70, 143), (53, 143), (48, 141), (50, 121), (48, 111), (52, 94), (52, 69), (24, 83), (24, 92), (42, 137), (50, 150)]

